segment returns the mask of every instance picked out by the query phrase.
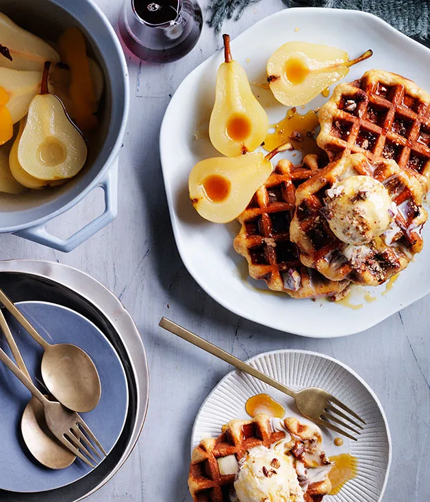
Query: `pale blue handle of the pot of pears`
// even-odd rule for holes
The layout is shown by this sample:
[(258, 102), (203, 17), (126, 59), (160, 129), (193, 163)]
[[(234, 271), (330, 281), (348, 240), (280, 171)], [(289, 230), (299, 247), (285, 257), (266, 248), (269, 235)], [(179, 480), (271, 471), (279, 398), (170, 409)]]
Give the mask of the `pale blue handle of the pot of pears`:
[[(94, 188), (103, 188), (105, 192), (105, 210), (103, 214), (97, 216), (93, 221), (90, 221), (85, 227), (78, 230), (73, 236), (68, 239), (60, 239), (52, 234), (49, 234), (45, 228), (46, 223), (36, 225), (35, 227), (19, 230), (14, 235), (23, 237), (27, 240), (32, 240), (38, 244), (58, 249), (63, 253), (73, 251), (75, 247), (85, 242), (87, 239), (97, 234), (99, 230), (114, 221), (118, 208), (118, 158), (112, 162), (112, 166), (106, 173), (105, 177), (94, 186)], [(92, 190), (94, 190), (92, 188)]]

